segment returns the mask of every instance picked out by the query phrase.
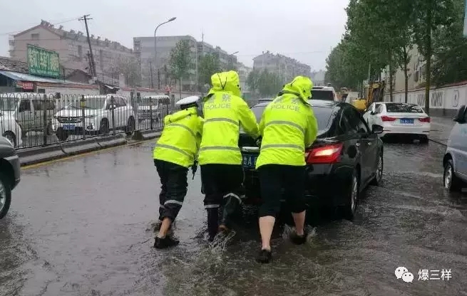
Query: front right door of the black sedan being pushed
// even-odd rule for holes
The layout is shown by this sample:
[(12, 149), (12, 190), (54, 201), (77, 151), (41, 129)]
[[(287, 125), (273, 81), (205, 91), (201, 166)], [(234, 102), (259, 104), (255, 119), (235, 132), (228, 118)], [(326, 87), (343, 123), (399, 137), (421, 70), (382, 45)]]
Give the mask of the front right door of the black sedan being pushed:
[(366, 184), (376, 171), (376, 141), (377, 135), (372, 134), (363, 117), (355, 108), (349, 108), (350, 126), (358, 139), (358, 146), (361, 152), (361, 180), (362, 185)]

